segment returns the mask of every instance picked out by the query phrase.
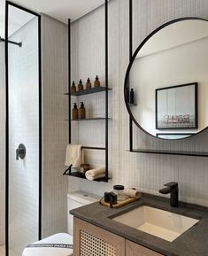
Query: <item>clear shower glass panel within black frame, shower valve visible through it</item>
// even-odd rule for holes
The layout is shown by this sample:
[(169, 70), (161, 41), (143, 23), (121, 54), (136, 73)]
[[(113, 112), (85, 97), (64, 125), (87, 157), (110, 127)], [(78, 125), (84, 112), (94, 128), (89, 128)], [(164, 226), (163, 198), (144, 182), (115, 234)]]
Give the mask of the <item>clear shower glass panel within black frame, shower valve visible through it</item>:
[(39, 232), (38, 17), (8, 4), (9, 256)]

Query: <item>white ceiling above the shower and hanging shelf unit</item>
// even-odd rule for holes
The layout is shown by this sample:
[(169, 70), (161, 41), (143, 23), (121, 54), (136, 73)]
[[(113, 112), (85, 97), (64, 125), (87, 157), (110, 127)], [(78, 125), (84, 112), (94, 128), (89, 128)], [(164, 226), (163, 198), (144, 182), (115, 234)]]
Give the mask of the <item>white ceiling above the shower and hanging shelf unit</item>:
[[(12, 2), (31, 11), (42, 12), (65, 23), (68, 22), (68, 19), (72, 21), (79, 19), (104, 4), (104, 0), (12, 0)], [(4, 4), (5, 0), (0, 0), (0, 36), (2, 37), (4, 37)], [(25, 23), (25, 18), (23, 21), (21, 19), (23, 18), (19, 15), (18, 23)], [(15, 20), (18, 19), (15, 18)], [(19, 25), (16, 24), (17, 22), (12, 24), (12, 18), (10, 22), (13, 29)]]

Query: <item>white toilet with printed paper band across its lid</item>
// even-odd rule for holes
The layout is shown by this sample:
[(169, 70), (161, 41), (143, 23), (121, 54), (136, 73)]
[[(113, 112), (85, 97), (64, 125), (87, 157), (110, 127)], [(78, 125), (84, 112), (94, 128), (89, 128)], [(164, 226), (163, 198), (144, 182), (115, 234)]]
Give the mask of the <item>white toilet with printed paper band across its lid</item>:
[(73, 215), (69, 212), (99, 200), (99, 197), (83, 191), (67, 194), (68, 234), (58, 233), (29, 244), (22, 256), (70, 256), (73, 255)]

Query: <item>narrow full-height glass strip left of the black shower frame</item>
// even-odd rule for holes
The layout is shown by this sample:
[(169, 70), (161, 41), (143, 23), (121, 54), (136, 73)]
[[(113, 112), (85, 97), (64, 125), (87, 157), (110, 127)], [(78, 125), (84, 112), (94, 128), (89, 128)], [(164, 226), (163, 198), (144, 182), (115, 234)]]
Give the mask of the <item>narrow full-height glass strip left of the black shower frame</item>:
[[(0, 1), (0, 37), (4, 38), (4, 2)], [(0, 42), (0, 256), (5, 256), (5, 43)]]

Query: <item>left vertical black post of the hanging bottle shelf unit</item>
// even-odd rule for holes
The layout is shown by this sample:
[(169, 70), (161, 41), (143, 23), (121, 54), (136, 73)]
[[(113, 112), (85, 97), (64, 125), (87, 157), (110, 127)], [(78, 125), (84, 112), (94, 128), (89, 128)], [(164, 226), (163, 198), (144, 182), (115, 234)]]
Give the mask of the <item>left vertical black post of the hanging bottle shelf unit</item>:
[[(72, 121), (71, 121), (71, 19), (68, 19), (68, 129), (69, 129), (69, 144), (72, 142)], [(69, 175), (72, 173), (72, 168), (69, 167)]]

